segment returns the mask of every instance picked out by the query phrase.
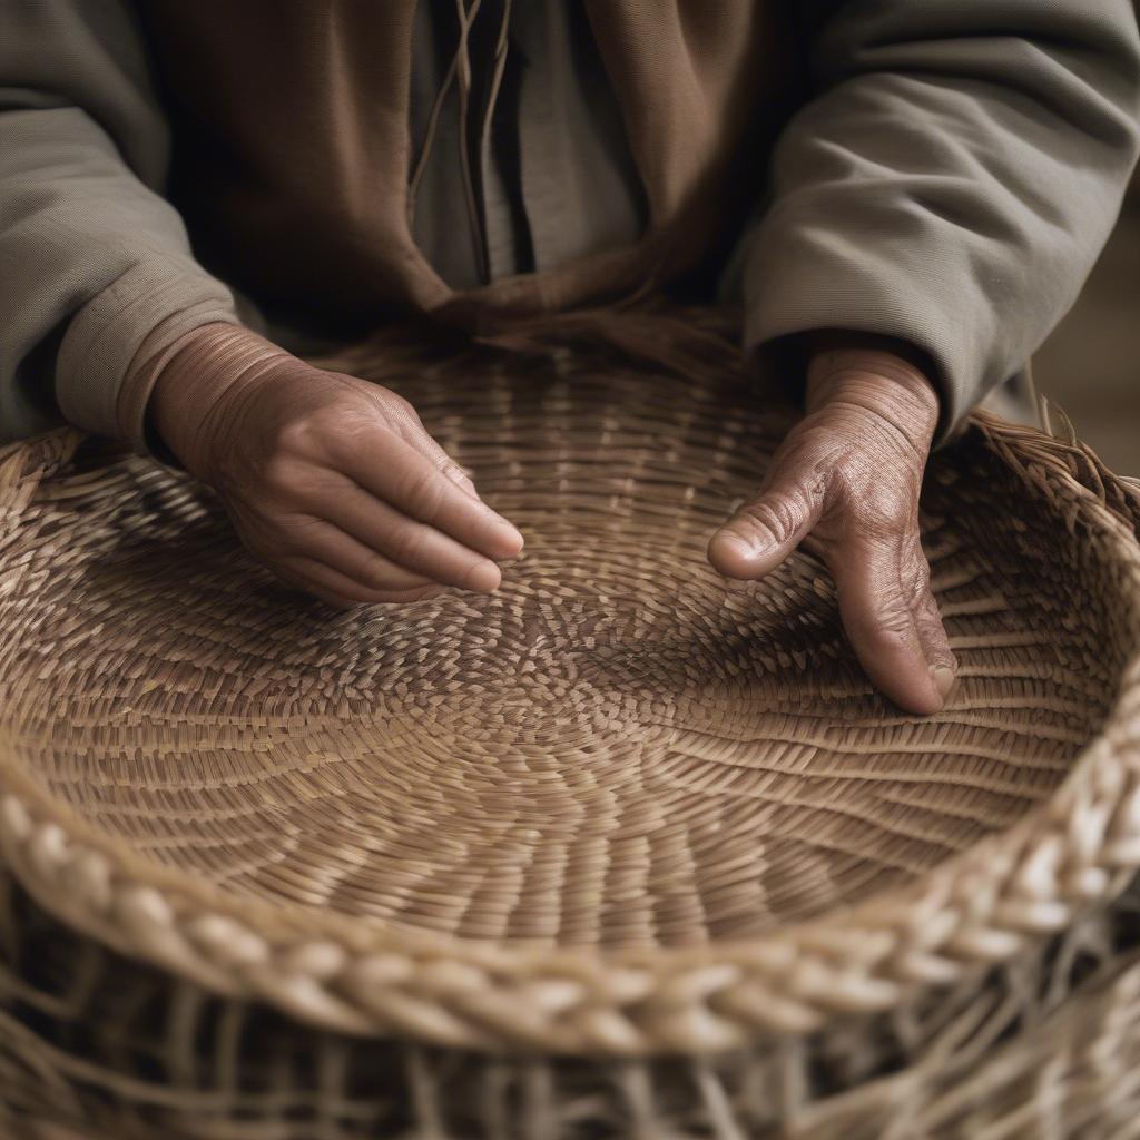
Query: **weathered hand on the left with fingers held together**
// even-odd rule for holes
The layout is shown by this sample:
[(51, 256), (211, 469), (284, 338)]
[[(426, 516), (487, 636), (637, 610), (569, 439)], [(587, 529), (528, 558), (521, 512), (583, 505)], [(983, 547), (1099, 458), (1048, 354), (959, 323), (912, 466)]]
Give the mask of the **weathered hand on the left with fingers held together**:
[(333, 604), (492, 591), (522, 548), (407, 400), (245, 329), (195, 329), (148, 414), (254, 557)]

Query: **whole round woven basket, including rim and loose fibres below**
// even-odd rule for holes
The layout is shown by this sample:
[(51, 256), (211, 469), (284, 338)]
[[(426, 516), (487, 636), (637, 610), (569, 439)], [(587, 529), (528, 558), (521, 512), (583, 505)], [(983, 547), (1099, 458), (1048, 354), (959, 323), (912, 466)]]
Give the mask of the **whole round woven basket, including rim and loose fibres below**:
[(976, 417), (905, 716), (812, 556), (703, 559), (790, 422), (730, 344), (337, 358), (526, 534), (489, 597), (335, 612), (178, 473), (0, 454), (0, 1134), (1140, 1134), (1140, 494)]

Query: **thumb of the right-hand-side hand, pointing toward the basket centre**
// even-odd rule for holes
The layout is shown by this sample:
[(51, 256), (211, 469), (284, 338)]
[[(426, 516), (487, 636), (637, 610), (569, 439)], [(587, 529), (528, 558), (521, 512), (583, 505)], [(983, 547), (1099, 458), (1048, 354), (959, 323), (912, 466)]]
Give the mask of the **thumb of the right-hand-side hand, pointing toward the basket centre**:
[(807, 537), (823, 513), (824, 480), (815, 472), (780, 473), (712, 536), (708, 557), (730, 578), (769, 573)]

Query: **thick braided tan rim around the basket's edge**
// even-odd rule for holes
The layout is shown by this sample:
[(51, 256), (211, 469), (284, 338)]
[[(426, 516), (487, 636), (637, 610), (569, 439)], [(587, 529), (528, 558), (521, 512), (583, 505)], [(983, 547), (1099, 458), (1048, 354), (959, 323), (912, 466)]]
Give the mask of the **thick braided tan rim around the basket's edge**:
[[(1080, 522), (1114, 549), (1140, 625), (1140, 488), (1067, 424), (1050, 435), (986, 413), (971, 423), (1035, 494), (1064, 494), (1070, 532)], [(70, 455), (82, 438), (52, 433), (49, 450)], [(46, 441), (0, 450), (0, 488)], [(812, 1032), (1009, 961), (1140, 870), (1140, 654), (1105, 728), (1013, 826), (850, 906), (699, 946), (481, 942), (231, 895), (97, 832), (6, 751), (0, 740), (0, 857), (56, 918), (319, 1027), (480, 1050), (705, 1053)]]

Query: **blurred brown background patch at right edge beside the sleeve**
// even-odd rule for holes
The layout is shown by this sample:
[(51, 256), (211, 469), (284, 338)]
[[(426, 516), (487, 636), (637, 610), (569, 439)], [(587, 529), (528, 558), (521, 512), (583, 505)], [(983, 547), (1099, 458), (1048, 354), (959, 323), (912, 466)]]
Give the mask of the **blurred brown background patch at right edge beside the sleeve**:
[(1080, 300), (1034, 358), (1033, 375), (1109, 467), (1140, 475), (1140, 178)]

